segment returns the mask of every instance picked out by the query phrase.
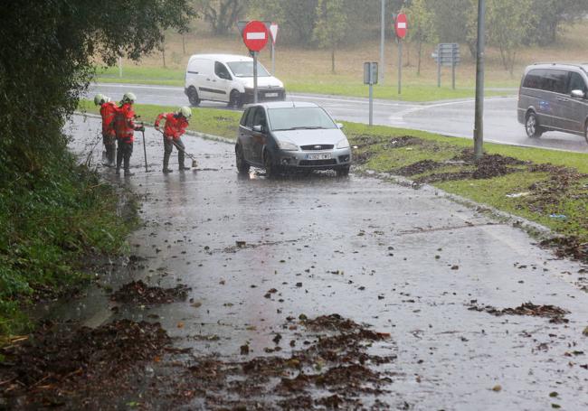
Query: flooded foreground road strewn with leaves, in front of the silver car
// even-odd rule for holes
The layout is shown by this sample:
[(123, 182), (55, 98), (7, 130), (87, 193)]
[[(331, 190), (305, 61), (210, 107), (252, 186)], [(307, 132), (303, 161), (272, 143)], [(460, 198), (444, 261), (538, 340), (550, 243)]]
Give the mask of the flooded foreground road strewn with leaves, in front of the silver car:
[[(74, 121), (72, 146), (87, 151), (100, 124)], [(146, 134), (151, 173), (142, 168), (140, 139), (131, 159), (135, 176), (102, 169), (106, 180), (142, 201), (145, 226), (129, 243), (146, 259), (138, 270), (102, 274), (100, 282), (115, 290), (139, 278), (181, 283), (202, 305), (115, 314), (108, 295), (95, 289), (55, 315), (96, 326), (156, 314), (178, 345), (235, 359), (247, 341), (250, 357), (263, 355), (274, 346), (272, 332), (289, 341), (281, 328), (288, 316), (339, 313), (391, 333), (378, 347), (398, 356), (391, 392), (380, 397), (391, 408), (404, 401), (419, 410), (588, 406), (588, 369), (581, 367), (588, 363), (588, 295), (577, 285), (585, 276), (580, 264), (555, 259), (520, 229), (432, 188), (415, 191), (353, 173), (240, 177), (232, 145), (192, 136), (184, 141), (198, 170), (164, 175), (160, 138), (152, 129)], [(264, 298), (270, 288), (278, 293)], [(472, 301), (498, 308), (555, 304), (570, 312), (569, 323), (495, 317), (469, 311)], [(284, 344), (283, 355), (289, 350)], [(499, 392), (491, 389), (497, 385)], [(549, 397), (554, 391), (558, 397)]]

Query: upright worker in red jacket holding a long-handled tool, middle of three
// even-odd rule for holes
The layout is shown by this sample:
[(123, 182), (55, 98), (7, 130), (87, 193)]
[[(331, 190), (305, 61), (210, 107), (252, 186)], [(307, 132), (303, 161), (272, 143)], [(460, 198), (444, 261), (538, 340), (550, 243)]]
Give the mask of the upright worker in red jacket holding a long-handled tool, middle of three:
[(120, 165), (124, 161), (125, 175), (134, 175), (129, 170), (130, 156), (133, 154), (133, 141), (135, 131), (145, 131), (145, 127), (135, 124), (135, 111), (133, 104), (137, 98), (133, 93), (125, 93), (114, 117), (114, 129), (117, 135), (117, 174), (120, 173)]

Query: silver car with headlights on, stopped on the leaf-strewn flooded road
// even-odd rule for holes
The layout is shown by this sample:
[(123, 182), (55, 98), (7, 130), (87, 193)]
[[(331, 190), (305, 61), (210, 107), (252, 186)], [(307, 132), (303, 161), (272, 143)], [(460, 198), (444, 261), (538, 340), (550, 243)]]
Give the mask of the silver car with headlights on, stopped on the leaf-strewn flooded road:
[(261, 167), (269, 176), (295, 170), (349, 173), (351, 148), (342, 126), (314, 103), (276, 101), (248, 106), (235, 156), (239, 173)]

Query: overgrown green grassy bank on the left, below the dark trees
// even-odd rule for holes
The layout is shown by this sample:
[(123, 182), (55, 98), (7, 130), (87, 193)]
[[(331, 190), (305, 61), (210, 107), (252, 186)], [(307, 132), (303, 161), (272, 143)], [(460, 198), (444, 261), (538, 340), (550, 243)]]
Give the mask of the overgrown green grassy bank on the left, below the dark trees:
[(138, 221), (128, 208), (70, 153), (0, 189), (0, 346), (33, 328), (31, 304), (79, 292), (91, 257), (128, 250)]

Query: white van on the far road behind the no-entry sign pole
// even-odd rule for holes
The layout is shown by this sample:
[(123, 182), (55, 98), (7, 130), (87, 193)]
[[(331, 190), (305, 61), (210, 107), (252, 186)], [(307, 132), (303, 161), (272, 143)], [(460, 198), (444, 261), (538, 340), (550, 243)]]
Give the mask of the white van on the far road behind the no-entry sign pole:
[[(257, 62), (258, 100), (283, 100), (284, 84)], [(242, 107), (253, 101), (253, 59), (234, 54), (194, 54), (185, 70), (185, 95), (192, 106), (202, 100)]]

